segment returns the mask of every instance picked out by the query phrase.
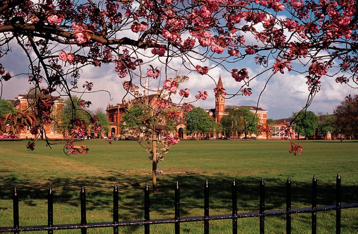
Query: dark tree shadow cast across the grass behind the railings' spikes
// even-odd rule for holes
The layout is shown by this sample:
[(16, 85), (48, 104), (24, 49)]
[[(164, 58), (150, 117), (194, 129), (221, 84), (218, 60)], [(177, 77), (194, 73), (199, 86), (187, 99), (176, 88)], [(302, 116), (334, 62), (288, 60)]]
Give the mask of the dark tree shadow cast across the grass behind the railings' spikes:
[[(113, 207), (113, 181), (117, 180), (119, 191), (119, 218), (122, 221), (144, 219), (144, 187), (148, 176), (121, 175), (109, 177), (86, 176), (78, 178), (51, 179), (54, 202), (70, 206), (80, 206), (80, 190), (85, 185), (87, 210)], [(150, 194), (151, 218), (174, 218), (174, 194), (176, 182), (180, 188), (180, 216), (202, 216), (204, 213), (204, 184), (208, 180), (210, 194), (210, 215), (231, 214), (231, 185), (233, 178), (228, 176), (205, 175), (162, 175), (158, 176), (159, 192)], [(238, 212), (257, 212), (260, 202), (261, 178), (235, 178), (237, 184)], [(28, 206), (35, 206), (34, 199), (47, 199), (48, 186), (20, 181), (16, 176), (3, 179), (0, 183), (0, 199), (11, 199), (14, 185), (19, 200)], [(266, 210), (284, 210), (286, 201), (286, 178), (266, 178)], [(310, 207), (311, 183), (292, 182), (292, 208)], [(335, 183), (318, 183), (318, 206), (335, 204)], [(342, 184), (342, 203), (358, 202), (358, 186)], [(154, 215), (152, 215), (153, 213)], [(106, 222), (111, 222), (108, 220)], [(139, 227), (127, 227), (128, 232), (138, 231)]]

